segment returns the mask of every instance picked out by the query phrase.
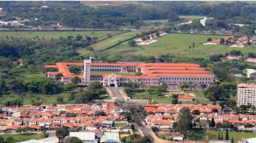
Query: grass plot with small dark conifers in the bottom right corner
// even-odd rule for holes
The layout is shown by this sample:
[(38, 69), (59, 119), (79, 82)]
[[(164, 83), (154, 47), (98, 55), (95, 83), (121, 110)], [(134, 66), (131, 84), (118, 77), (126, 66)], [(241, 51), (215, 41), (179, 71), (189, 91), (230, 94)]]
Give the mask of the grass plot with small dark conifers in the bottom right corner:
[[(208, 131), (208, 133), (206, 133), (205, 131), (201, 131), (201, 130), (193, 130), (191, 132), (191, 134), (189, 135), (191, 140), (204, 140), (206, 138), (206, 136), (208, 135), (208, 139), (209, 140), (218, 140), (218, 131)], [(220, 132), (221, 134), (221, 132)], [(225, 134), (226, 131), (222, 132), (223, 134), (223, 138), (225, 139)], [(241, 140), (242, 138), (253, 138), (256, 137), (255, 133), (242, 133), (242, 132), (229, 132), (229, 140), (231, 140), (231, 138), (234, 138), (234, 142), (237, 142), (238, 140)]]

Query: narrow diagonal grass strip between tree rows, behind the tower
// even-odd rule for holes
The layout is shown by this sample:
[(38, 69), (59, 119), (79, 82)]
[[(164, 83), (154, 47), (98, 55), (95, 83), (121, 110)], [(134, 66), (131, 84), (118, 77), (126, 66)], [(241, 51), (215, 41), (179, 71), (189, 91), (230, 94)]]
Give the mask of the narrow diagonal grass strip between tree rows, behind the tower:
[[(126, 39), (136, 36), (136, 33), (137, 32), (127, 32), (127, 33), (119, 34), (119, 35), (113, 36), (111, 38), (108, 38), (107, 40), (103, 40), (99, 43), (93, 44), (91, 46), (95, 50), (106, 49), (110, 46), (115, 45), (116, 43), (119, 43), (122, 40), (126, 40)], [(80, 49), (78, 52), (82, 55), (87, 55), (87, 54), (92, 53), (92, 51), (87, 51), (86, 49)]]

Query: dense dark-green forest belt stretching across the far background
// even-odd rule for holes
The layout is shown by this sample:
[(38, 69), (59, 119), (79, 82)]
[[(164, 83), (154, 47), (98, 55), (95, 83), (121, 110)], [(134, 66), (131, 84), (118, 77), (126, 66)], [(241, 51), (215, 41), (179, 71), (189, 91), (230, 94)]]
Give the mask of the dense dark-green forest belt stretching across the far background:
[[(75, 28), (108, 28), (122, 26), (140, 27), (140, 20), (179, 21), (177, 15), (206, 15), (223, 23), (255, 23), (255, 4), (243, 2), (208, 5), (200, 1), (149, 1), (150, 5), (127, 4), (121, 6), (99, 6), (92, 8), (79, 1), (59, 2), (22, 2), (3, 1), (1, 7), (5, 14), (1, 19), (9, 20), (13, 16), (29, 18), (30, 26), (61, 23)], [(48, 8), (41, 8), (48, 6)], [(31, 9), (32, 8), (32, 9)], [(38, 20), (35, 20), (37, 18)]]

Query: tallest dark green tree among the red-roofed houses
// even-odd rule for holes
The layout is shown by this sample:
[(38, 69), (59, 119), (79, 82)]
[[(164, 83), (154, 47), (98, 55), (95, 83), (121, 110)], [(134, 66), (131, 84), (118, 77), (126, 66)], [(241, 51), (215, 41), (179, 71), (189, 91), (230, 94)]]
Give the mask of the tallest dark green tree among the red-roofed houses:
[(180, 110), (179, 118), (180, 120), (178, 121), (178, 126), (176, 126), (176, 130), (182, 133), (182, 137), (186, 139), (187, 133), (191, 131), (193, 126), (192, 124), (193, 116), (191, 115), (190, 109), (187, 107), (183, 107)]

